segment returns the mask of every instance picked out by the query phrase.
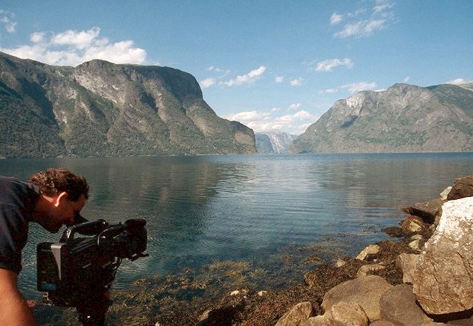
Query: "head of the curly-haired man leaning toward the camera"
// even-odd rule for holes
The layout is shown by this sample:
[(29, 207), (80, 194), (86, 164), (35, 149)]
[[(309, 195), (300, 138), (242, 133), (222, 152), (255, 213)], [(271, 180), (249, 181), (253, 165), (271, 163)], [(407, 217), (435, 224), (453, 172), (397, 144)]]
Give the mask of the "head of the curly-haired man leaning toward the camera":
[(80, 212), (88, 198), (88, 185), (82, 175), (63, 168), (49, 168), (28, 180), (39, 185), (41, 198), (35, 220), (49, 232), (56, 233), (63, 224), (78, 223)]

